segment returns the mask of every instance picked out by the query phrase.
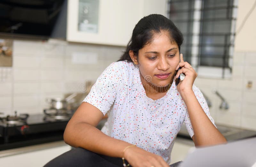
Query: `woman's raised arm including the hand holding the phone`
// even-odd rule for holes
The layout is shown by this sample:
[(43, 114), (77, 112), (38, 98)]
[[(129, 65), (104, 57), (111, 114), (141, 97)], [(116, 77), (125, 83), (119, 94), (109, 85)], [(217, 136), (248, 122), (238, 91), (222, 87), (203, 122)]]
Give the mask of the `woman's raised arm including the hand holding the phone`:
[(198, 100), (196, 99), (195, 93), (192, 90), (192, 86), (197, 74), (195, 70), (191, 68), (188, 62), (183, 61), (182, 54), (180, 55), (180, 63), (176, 70), (179, 67), (182, 68), (177, 72), (176, 77), (183, 73), (185, 78), (178, 84), (177, 90), (180, 92), (180, 95), (188, 109), (188, 115), (194, 131), (192, 140), (194, 141), (195, 146), (207, 146), (226, 143), (227, 140), (225, 137), (213, 125), (211, 120), (205, 114)]

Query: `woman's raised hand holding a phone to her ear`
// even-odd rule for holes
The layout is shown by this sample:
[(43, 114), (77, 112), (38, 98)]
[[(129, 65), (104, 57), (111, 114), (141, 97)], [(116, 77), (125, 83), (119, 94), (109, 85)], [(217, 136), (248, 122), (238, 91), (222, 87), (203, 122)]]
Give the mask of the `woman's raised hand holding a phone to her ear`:
[(178, 70), (179, 68), (181, 69), (177, 72), (176, 76), (174, 76), (175, 79), (178, 78), (181, 73), (185, 75), (185, 78), (177, 85), (177, 90), (180, 94), (185, 91), (193, 91), (192, 86), (197, 74), (188, 62), (184, 62), (182, 54), (180, 54), (180, 62), (175, 70)]

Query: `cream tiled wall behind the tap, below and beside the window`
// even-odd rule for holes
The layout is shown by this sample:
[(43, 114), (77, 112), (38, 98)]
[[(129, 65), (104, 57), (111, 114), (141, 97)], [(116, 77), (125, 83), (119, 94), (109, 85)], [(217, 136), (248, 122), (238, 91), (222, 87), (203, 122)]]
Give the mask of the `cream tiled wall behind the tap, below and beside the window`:
[[(256, 52), (236, 52), (231, 79), (196, 79), (196, 86), (212, 101), (210, 112), (216, 123), (256, 130), (255, 65)], [(252, 81), (251, 88), (247, 88), (248, 81)], [(212, 89), (225, 98), (228, 110), (220, 110), (221, 100)]]

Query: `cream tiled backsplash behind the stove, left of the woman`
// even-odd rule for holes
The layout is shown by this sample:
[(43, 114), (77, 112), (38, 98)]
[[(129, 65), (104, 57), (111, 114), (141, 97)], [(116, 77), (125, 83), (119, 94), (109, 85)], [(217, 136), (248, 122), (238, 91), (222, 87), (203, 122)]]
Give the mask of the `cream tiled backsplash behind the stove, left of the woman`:
[[(103, 70), (116, 62), (124, 47), (68, 43), (50, 40), (14, 40), (13, 67), (0, 80), (0, 113), (43, 113), (46, 98), (63, 98), (65, 93), (80, 92), (86, 81), (95, 82)], [(92, 52), (98, 63), (73, 64), (74, 52)], [(7, 68), (0, 68), (6, 71)]]

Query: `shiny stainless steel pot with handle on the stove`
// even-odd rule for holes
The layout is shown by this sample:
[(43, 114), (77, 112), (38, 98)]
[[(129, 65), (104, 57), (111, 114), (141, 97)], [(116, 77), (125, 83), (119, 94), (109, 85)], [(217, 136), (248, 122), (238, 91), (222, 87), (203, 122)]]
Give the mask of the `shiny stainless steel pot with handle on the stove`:
[(76, 97), (77, 93), (73, 93), (67, 98), (61, 99), (61, 98), (47, 98), (46, 102), (50, 104), (51, 109), (67, 109), (68, 107), (68, 101), (72, 98)]

